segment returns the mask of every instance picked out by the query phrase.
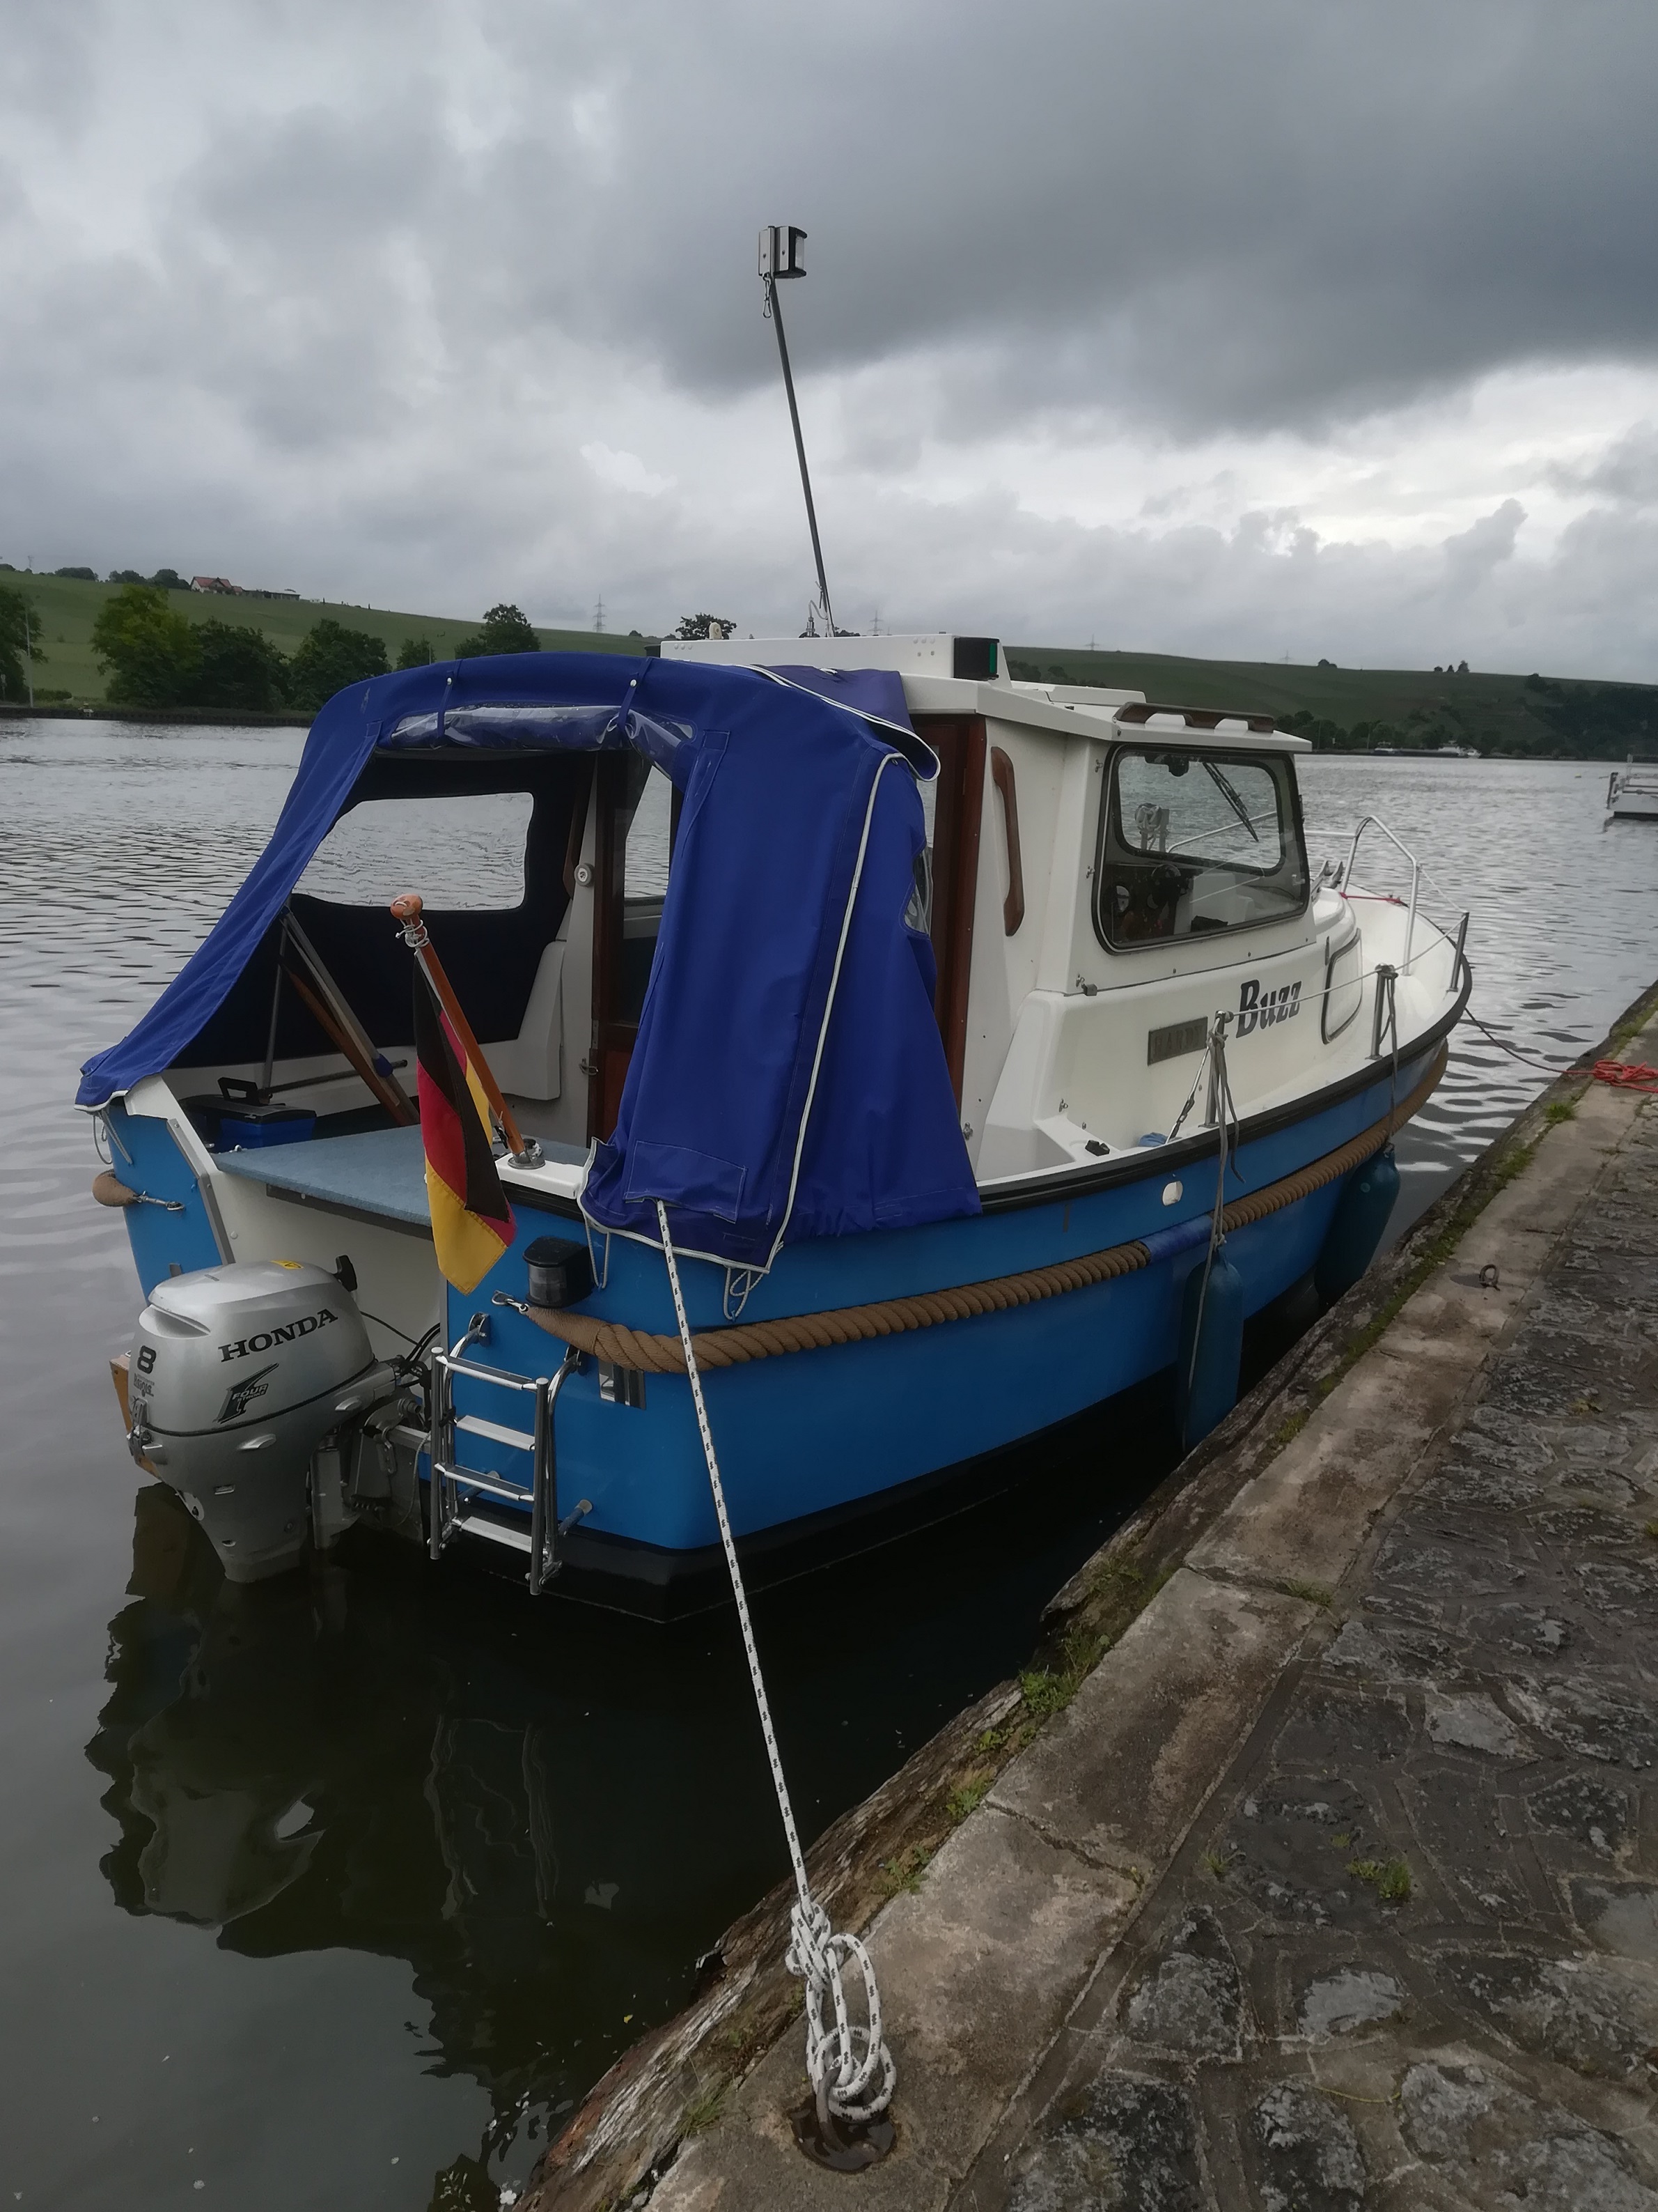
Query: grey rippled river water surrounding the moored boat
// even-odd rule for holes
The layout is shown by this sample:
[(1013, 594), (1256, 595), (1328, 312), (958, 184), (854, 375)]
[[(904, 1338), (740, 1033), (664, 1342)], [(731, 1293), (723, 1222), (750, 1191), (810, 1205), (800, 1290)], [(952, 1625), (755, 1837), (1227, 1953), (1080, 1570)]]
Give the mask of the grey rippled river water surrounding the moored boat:
[[(387, 1546), (232, 1590), (126, 1460), (106, 1356), (137, 1290), (66, 1102), (241, 880), (296, 754), (0, 723), (0, 2192), (24, 2205), (495, 2205), (783, 1874), (727, 1617), (531, 1608)], [(1525, 1051), (1570, 1060), (1658, 971), (1658, 832), (1601, 834), (1601, 770), (1302, 781), (1315, 860), (1375, 810), (1475, 907), (1477, 1006)], [(1410, 1210), (1541, 1082), (1463, 1033), (1402, 1141)], [(1112, 1440), (1163, 1469), (1150, 1416)], [(1132, 1502), (1096, 1464), (1083, 1438), (1039, 1506), (760, 1601), (807, 1832), (1028, 1655)]]

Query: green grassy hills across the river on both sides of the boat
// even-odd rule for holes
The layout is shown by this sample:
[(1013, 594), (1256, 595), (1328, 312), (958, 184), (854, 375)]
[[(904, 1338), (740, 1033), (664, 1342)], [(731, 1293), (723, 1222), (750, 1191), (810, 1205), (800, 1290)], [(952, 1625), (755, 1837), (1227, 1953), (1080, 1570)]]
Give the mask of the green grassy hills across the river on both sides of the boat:
[[(115, 584), (77, 577), (7, 575), (40, 608), (46, 664), (38, 688), (66, 690), (73, 701), (104, 697), (93, 659), (93, 622)], [(460, 637), (478, 628), (475, 615), (411, 615), (338, 599), (228, 599), (175, 591), (170, 604), (192, 622), (250, 624), (283, 653), (305, 630), (332, 617), (385, 639), (396, 661), (405, 637), (427, 637), (444, 659)], [(539, 630), (548, 650), (639, 653), (646, 639), (595, 630)], [(1658, 757), (1658, 688), (1647, 684), (1585, 684), (1541, 675), (1470, 675), (1415, 668), (1304, 668), (1291, 661), (1198, 661), (1154, 653), (1085, 653), (1070, 646), (1008, 648), (1015, 677), (1063, 684), (1105, 684), (1143, 690), (1169, 706), (1222, 706), (1278, 714), (1322, 748), (1475, 745), (1479, 752), (1561, 754), (1572, 759)]]

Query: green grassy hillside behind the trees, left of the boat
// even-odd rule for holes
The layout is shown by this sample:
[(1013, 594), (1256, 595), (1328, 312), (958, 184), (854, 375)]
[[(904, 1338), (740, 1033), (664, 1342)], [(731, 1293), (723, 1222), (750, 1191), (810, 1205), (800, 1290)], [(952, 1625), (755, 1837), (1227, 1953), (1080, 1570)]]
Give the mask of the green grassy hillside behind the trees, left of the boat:
[[(95, 703), (104, 697), (104, 677), (93, 659), (93, 624), (99, 608), (115, 597), (119, 584), (86, 584), (66, 575), (7, 573), (0, 568), (0, 584), (20, 586), (40, 611), (44, 666), (35, 668), (35, 688), (69, 692), (75, 703)], [(478, 628), (478, 615), (402, 615), (385, 606), (347, 606), (340, 599), (230, 599), (221, 593), (170, 591), (168, 606), (192, 622), (237, 622), (265, 637), (283, 653), (292, 653), (314, 622), (325, 615), (354, 630), (371, 630), (385, 639), (387, 657), (396, 664), (405, 637), (431, 639), (438, 659), (469, 630)], [(639, 653), (639, 637), (595, 635), (590, 630), (539, 630), (548, 650), (562, 653)]]

